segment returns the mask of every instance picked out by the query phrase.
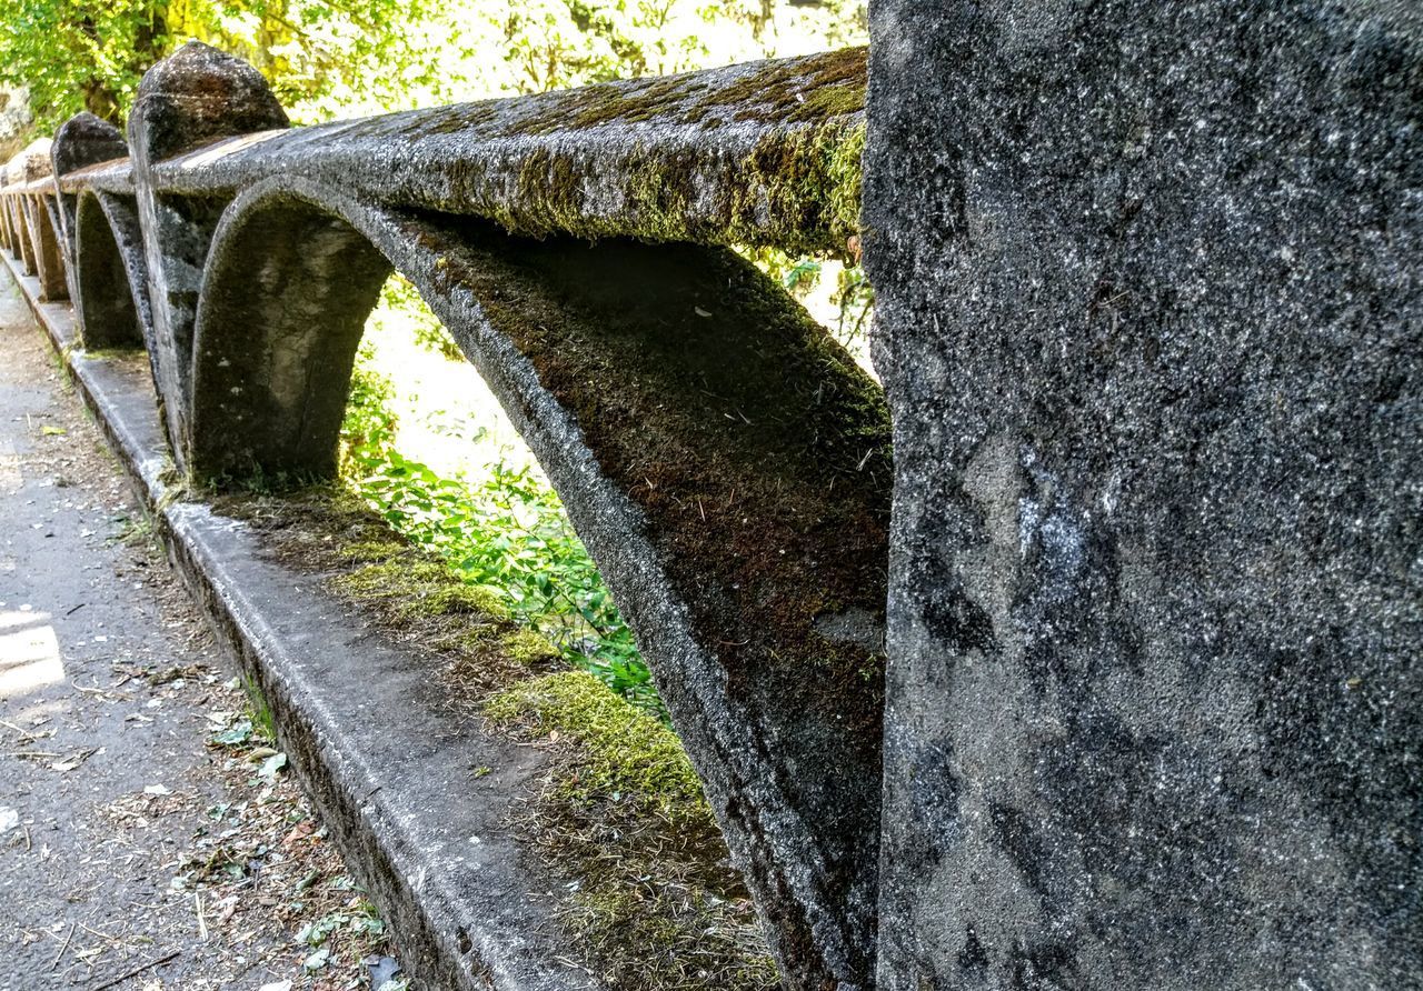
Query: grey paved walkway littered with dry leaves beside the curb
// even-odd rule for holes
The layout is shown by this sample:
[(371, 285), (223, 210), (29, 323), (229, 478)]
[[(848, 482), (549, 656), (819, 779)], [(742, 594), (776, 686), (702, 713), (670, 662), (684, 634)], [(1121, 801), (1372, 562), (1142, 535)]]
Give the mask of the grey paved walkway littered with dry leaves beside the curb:
[(0, 272), (0, 991), (370, 987), (380, 923), (147, 526)]

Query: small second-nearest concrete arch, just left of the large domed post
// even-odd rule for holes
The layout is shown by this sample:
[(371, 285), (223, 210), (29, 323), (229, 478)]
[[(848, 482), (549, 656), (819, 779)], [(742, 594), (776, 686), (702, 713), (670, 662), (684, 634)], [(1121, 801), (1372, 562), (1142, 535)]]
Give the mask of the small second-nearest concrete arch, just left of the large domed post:
[(74, 219), (74, 310), (87, 348), (148, 347), (142, 235), (132, 202), (111, 193), (80, 193)]

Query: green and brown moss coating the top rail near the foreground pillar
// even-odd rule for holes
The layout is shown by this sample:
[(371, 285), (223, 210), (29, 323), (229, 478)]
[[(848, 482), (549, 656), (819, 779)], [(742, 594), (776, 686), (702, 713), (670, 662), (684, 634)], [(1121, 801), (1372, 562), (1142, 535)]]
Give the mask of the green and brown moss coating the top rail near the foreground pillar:
[[(797, 125), (768, 129), (743, 161), (714, 148), (633, 141), (620, 164), (618, 218), (585, 212), (593, 164), (552, 146), (529, 148), (515, 195), (487, 202), (517, 233), (582, 237), (632, 235), (650, 242), (777, 245), (844, 250), (857, 233), (864, 149), (865, 50), (850, 48), (743, 71), (713, 88), (706, 78), (602, 84), (549, 95), (501, 134), (546, 135), (610, 122), (657, 119), (723, 127), (729, 121)], [(480, 186), (471, 176), (471, 189)]]

